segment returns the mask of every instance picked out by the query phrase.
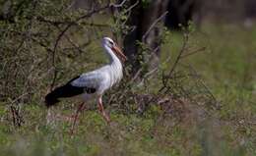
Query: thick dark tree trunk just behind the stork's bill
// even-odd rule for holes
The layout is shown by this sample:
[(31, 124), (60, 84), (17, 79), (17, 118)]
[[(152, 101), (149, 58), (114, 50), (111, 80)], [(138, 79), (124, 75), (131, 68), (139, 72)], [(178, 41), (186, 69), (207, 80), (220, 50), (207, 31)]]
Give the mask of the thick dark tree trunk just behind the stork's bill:
[[(137, 0), (131, 0), (130, 5), (136, 2)], [(142, 68), (142, 62), (150, 62), (150, 64), (148, 64), (150, 65), (149, 69), (158, 66), (162, 25), (153, 26), (153, 24), (157, 20), (160, 20), (160, 24), (162, 24), (164, 18), (159, 18), (166, 11), (167, 2), (168, 0), (154, 0), (148, 2), (149, 4), (143, 4), (145, 2), (139, 0), (139, 4), (133, 9), (129, 17), (127, 25), (134, 26), (135, 29), (125, 36), (124, 48), (125, 53), (133, 65), (133, 74)], [(140, 50), (138, 42), (147, 45), (149, 53), (148, 58), (141, 53), (142, 51)], [(143, 59), (141, 59), (141, 57), (143, 57)]]

